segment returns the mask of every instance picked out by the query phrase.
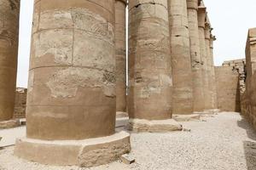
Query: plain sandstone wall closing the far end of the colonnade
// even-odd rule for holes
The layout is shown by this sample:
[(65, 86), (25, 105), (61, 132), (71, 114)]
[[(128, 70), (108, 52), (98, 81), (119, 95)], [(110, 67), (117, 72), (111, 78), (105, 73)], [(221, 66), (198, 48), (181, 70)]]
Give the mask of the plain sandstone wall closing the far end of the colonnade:
[(233, 66), (216, 66), (218, 109), (240, 111), (239, 73)]

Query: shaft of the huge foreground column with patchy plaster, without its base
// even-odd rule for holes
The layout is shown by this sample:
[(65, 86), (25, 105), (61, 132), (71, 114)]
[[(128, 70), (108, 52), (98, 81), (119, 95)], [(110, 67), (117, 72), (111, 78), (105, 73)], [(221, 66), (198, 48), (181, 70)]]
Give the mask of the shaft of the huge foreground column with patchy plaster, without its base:
[(35, 2), (28, 138), (88, 139), (114, 133), (113, 7), (113, 0)]

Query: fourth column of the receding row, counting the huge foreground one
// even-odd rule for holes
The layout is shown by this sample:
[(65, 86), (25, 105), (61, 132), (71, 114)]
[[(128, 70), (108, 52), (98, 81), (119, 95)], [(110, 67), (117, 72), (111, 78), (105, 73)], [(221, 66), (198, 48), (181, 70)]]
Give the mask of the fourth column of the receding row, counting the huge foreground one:
[(187, 0), (189, 18), (190, 54), (193, 74), (194, 111), (204, 110), (203, 78), (201, 72), (201, 51), (198, 33), (198, 0)]

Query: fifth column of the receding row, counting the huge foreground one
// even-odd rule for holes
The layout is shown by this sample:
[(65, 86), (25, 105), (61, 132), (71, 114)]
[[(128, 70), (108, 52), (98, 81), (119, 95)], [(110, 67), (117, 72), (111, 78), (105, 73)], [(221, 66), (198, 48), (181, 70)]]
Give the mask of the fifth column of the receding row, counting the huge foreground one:
[(210, 109), (210, 93), (209, 93), (209, 83), (207, 75), (207, 51), (206, 51), (206, 40), (205, 40), (205, 24), (207, 11), (206, 7), (200, 6), (198, 8), (198, 33), (200, 42), (200, 54), (202, 61), (202, 79), (203, 79), (203, 91), (204, 91), (204, 101), (205, 109)]

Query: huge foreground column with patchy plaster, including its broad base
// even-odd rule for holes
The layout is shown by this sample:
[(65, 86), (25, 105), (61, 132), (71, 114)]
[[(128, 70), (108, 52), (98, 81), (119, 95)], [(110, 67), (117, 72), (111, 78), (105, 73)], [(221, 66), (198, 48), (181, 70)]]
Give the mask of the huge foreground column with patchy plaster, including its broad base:
[(35, 1), (26, 138), (16, 156), (91, 167), (130, 150), (129, 134), (115, 133), (114, 3)]

